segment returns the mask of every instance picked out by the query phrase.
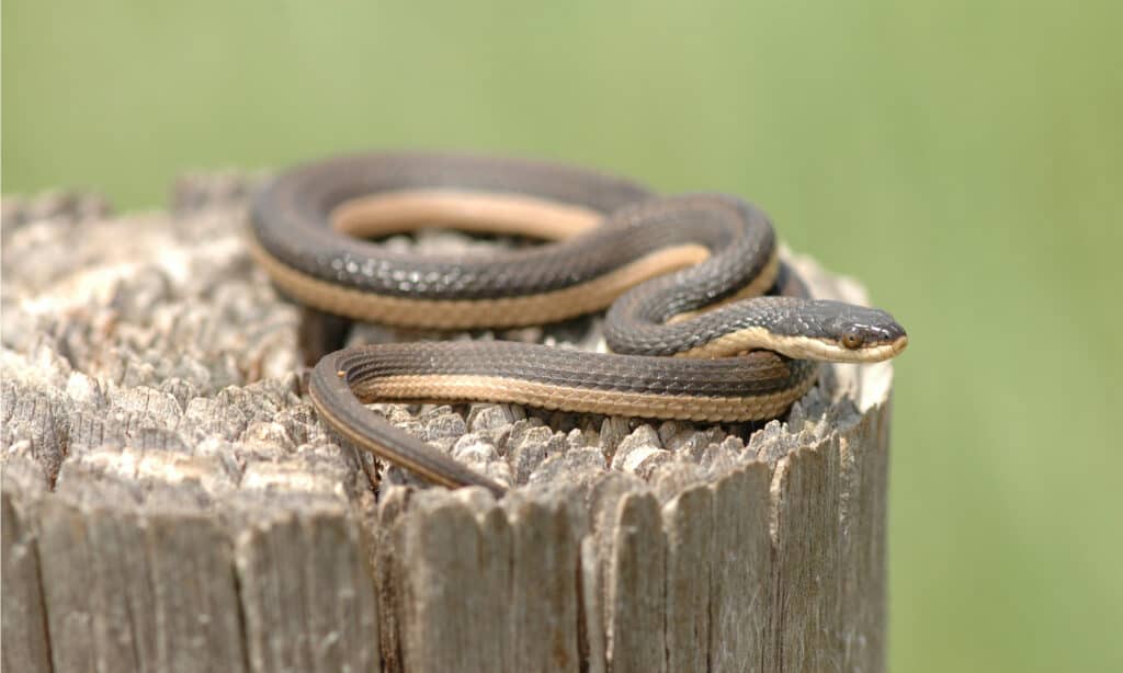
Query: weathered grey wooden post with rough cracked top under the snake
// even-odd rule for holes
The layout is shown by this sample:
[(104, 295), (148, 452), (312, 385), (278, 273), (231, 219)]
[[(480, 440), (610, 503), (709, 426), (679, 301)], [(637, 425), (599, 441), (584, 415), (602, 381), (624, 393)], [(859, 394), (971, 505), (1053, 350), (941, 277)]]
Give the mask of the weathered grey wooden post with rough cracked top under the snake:
[[(373, 405), (518, 485), (426, 487), (317, 423), (255, 179), (6, 200), (4, 670), (884, 670), (888, 363), (766, 425)], [(601, 345), (596, 317), (473, 336)]]

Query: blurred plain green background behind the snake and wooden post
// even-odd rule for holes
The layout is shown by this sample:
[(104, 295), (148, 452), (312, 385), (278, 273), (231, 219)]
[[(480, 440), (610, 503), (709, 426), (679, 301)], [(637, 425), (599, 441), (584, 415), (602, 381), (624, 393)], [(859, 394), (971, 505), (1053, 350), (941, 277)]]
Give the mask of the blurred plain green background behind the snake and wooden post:
[(752, 199), (912, 336), (893, 670), (1123, 670), (1123, 4), (2, 11), (6, 194), (454, 147)]

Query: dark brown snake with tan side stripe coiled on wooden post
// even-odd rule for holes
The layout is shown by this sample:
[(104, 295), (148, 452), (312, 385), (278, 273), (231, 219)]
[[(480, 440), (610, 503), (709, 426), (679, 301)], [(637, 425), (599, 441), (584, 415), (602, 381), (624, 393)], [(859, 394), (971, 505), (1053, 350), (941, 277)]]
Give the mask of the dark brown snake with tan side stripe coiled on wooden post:
[[(390, 249), (427, 227), (535, 241), (485, 256)], [(551, 162), (373, 153), (299, 165), (249, 209), (249, 250), (280, 291), (350, 320), (435, 331), (605, 312), (610, 352), (419, 341), (323, 356), (308, 390), (331, 432), (446, 487), (506, 487), (375, 413), (374, 402), (490, 402), (693, 422), (775, 418), (821, 362), (900, 353), (878, 308), (818, 299), (768, 216), (720, 193), (658, 195)]]

